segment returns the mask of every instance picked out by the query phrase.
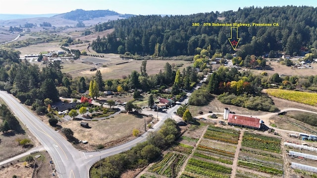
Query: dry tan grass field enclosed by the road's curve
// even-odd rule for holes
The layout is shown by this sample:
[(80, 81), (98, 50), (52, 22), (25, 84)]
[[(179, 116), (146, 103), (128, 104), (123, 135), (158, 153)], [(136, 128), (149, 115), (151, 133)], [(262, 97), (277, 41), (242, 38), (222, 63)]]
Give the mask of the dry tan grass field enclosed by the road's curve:
[[(147, 122), (152, 120), (146, 117)], [(70, 128), (74, 132), (74, 137), (79, 140), (87, 140), (92, 145), (105, 144), (124, 137), (130, 137), (132, 130), (137, 128), (140, 132), (144, 131), (144, 118), (138, 118), (131, 114), (119, 114), (114, 118), (85, 121), (92, 128), (80, 126), (81, 121), (71, 120), (62, 122), (62, 127)]]

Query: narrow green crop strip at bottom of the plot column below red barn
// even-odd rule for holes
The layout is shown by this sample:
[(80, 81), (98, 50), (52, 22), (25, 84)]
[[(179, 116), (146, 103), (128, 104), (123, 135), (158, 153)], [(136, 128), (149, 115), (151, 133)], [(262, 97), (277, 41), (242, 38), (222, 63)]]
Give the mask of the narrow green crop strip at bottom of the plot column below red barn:
[(283, 175), (282, 170), (278, 170), (278, 169), (275, 169), (272, 167), (266, 167), (266, 166), (259, 164), (259, 163), (239, 160), (238, 165), (242, 166), (242, 167), (246, 167), (246, 168), (251, 168), (252, 170), (258, 170), (258, 171), (261, 171), (263, 173), (275, 175), (275, 176), (282, 176)]

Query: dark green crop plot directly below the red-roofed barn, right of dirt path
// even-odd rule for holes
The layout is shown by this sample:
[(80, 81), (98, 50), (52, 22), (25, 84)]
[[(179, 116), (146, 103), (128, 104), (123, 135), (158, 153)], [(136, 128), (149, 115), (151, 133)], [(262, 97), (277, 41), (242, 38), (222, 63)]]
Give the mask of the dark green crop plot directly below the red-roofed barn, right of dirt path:
[(242, 138), (242, 146), (280, 153), (281, 139), (245, 132)]

